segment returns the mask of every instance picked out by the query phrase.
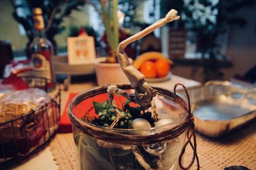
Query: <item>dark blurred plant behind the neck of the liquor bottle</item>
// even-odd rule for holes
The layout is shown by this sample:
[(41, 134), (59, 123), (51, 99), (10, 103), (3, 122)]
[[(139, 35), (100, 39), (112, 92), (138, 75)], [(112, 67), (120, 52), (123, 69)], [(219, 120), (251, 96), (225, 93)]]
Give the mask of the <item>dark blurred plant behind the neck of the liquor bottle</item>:
[[(26, 54), (30, 57), (29, 45), (35, 37), (35, 29), (33, 24), (33, 8), (42, 8), (43, 17), (45, 21), (45, 36), (49, 41), (51, 41), (54, 46), (54, 53), (58, 52), (56, 41), (54, 36), (60, 34), (65, 27), (61, 25), (63, 18), (68, 17), (72, 10), (79, 10), (79, 6), (83, 5), (82, 1), (75, 0), (22, 0), (14, 1), (12, 0), (13, 6), (13, 17), (19, 24), (21, 24), (25, 31), (26, 36), (28, 37), (28, 43), (26, 44)], [(20, 13), (18, 11), (24, 11)]]

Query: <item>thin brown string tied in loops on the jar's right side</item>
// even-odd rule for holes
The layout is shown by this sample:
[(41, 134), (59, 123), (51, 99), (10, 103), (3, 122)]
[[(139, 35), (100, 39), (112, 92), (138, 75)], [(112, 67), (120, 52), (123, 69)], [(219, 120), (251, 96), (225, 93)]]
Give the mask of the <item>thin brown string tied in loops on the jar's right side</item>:
[[(195, 159), (196, 159), (196, 163), (197, 163), (197, 169), (200, 169), (200, 164), (199, 164), (199, 159), (198, 159), (198, 155), (196, 153), (196, 134), (195, 134), (195, 124), (194, 124), (194, 117), (193, 117), (193, 113), (191, 112), (191, 105), (190, 105), (190, 99), (189, 99), (189, 95), (188, 95), (188, 90), (187, 88), (182, 84), (182, 83), (177, 83), (175, 84), (174, 86), (174, 97), (175, 99), (177, 99), (177, 94), (176, 94), (176, 88), (178, 85), (181, 85), (184, 89), (184, 91), (186, 92), (186, 97), (188, 99), (188, 109), (186, 109), (188, 111), (188, 114), (189, 114), (189, 127), (188, 127), (188, 130), (187, 130), (187, 141), (186, 143), (184, 144), (181, 152), (180, 152), (180, 155), (179, 155), (179, 166), (181, 169), (189, 169), (193, 163), (195, 162)], [(179, 99), (177, 99), (179, 100)], [(183, 106), (184, 106), (184, 103), (182, 102), (181, 103)], [(186, 108), (186, 106), (184, 106), (184, 108)], [(193, 143), (191, 142), (191, 138), (193, 137)], [(182, 157), (186, 151), (186, 147), (188, 146), (188, 144), (191, 146), (192, 150), (193, 150), (193, 158), (191, 159), (191, 162), (189, 163), (189, 165), (187, 167), (184, 167), (182, 165)]]

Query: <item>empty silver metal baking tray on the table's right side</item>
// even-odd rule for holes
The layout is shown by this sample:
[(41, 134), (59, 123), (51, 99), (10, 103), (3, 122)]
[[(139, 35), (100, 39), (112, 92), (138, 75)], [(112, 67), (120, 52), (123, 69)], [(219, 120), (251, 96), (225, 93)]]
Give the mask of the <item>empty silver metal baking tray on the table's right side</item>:
[[(229, 81), (208, 81), (188, 89), (196, 131), (212, 138), (256, 120), (256, 89)], [(184, 92), (180, 92), (184, 96)]]

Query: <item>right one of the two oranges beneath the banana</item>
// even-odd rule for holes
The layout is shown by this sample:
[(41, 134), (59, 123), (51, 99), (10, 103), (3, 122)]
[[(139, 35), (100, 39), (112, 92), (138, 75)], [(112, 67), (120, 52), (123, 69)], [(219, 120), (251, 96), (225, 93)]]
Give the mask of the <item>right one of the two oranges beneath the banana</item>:
[(170, 64), (165, 59), (158, 59), (155, 62), (157, 77), (164, 77), (170, 71)]

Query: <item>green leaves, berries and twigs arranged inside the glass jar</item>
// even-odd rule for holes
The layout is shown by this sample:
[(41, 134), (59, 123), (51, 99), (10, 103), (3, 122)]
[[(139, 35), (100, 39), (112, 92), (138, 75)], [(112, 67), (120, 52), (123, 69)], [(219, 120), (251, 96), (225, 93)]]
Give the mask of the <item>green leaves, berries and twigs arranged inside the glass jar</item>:
[[(114, 96), (127, 97), (125, 103), (122, 103), (124, 99), (122, 100), (120, 97), (121, 108), (117, 107)], [(118, 89), (115, 85), (110, 85), (108, 86), (109, 99), (102, 103), (93, 101), (93, 107), (86, 111), (81, 119), (94, 125), (106, 127), (106, 129), (134, 129), (134, 121), (136, 120), (143, 120), (140, 127), (137, 127), (142, 131), (143, 129), (150, 129), (151, 126), (154, 127), (158, 120), (157, 115), (154, 115), (156, 114), (155, 110), (153, 109), (152, 112), (145, 111), (145, 109), (138, 106), (138, 104), (136, 104), (135, 107), (131, 106), (134, 101), (131, 101), (132, 98), (129, 96), (131, 96), (131, 94), (128, 94), (125, 90)], [(90, 117), (90, 111), (92, 111), (93, 108), (97, 116)], [(145, 122), (147, 123), (145, 124)], [(147, 127), (147, 125), (149, 127)], [(115, 146), (111, 146), (111, 143), (104, 144), (104, 141), (102, 141), (102, 144), (99, 145), (99, 142), (97, 144), (97, 142), (92, 141), (92, 139), (86, 137), (83, 139), (88, 152), (93, 152), (92, 159), (97, 159), (97, 164), (100, 164), (102, 167), (108, 167), (108, 169), (122, 169), (120, 168), (121, 166), (123, 169), (148, 169), (147, 167), (162, 169), (163, 163), (158, 155), (161, 155), (164, 151), (169, 152), (170, 146), (172, 146), (172, 149), (177, 148), (177, 143), (167, 146), (166, 141), (147, 146), (122, 145), (122, 147), (120, 147), (115, 143)], [(88, 148), (88, 146), (90, 148)], [(106, 149), (108, 149), (107, 155), (105, 155), (104, 152)], [(87, 157), (90, 156), (90, 154), (87, 154)], [(170, 162), (170, 160), (168, 161)]]

